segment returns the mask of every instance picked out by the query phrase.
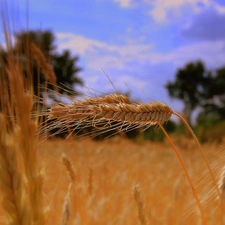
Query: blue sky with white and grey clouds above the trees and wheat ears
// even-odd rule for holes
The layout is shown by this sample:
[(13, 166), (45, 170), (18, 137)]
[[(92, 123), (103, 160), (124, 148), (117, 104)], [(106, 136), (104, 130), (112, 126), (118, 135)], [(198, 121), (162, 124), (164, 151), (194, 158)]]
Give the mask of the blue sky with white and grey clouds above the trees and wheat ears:
[(7, 2), (18, 29), (26, 28), (28, 5), (29, 28), (51, 29), (58, 51), (78, 55), (79, 76), (101, 92), (114, 91), (104, 70), (117, 90), (181, 111), (182, 104), (164, 88), (177, 69), (199, 59), (208, 69), (225, 65), (224, 0)]

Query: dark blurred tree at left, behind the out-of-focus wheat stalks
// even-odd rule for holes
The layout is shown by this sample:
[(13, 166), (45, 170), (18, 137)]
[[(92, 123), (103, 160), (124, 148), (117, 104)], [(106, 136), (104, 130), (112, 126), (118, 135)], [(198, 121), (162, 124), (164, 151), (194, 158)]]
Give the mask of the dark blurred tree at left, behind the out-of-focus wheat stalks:
[[(37, 95), (38, 89), (40, 85), (44, 85), (46, 81), (46, 76), (44, 76), (43, 72), (40, 71), (38, 63), (36, 62), (32, 52), (27, 51), (27, 45), (34, 43), (39, 47), (41, 52), (43, 53), (46, 63), (49, 65), (56, 77), (57, 77), (57, 86), (58, 91), (61, 94), (70, 95), (72, 92), (65, 92), (65, 85), (69, 89), (74, 90), (75, 85), (83, 85), (83, 81), (80, 77), (78, 77), (78, 73), (81, 71), (81, 68), (77, 66), (78, 57), (73, 57), (69, 50), (65, 50), (62, 53), (56, 52), (56, 46), (54, 45), (55, 37), (50, 30), (31, 30), (31, 31), (22, 31), (15, 34), (15, 44), (13, 51), (17, 60), (21, 60), (26, 64), (29, 60), (29, 65), (32, 61), (32, 68), (27, 68), (24, 66), (24, 74), (27, 74), (27, 70), (31, 70), (33, 74), (33, 85), (34, 92)], [(4, 53), (4, 54), (7, 54)], [(4, 55), (3, 53), (1, 55)], [(48, 88), (52, 89), (52, 85), (48, 84)], [(62, 87), (62, 88), (60, 88)], [(43, 92), (44, 89), (41, 89)], [(78, 94), (76, 90), (74, 90), (74, 95)]]

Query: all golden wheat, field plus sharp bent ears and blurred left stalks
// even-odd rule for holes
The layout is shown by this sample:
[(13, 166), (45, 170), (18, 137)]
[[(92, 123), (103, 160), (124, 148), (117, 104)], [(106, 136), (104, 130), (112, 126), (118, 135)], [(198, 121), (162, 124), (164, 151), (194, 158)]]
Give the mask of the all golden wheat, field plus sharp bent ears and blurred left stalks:
[[(165, 103), (134, 103), (118, 93), (44, 110), (42, 99), (34, 96), (32, 69), (36, 66), (46, 83), (56, 86), (51, 66), (29, 39), (13, 50), (7, 23), (4, 32), (0, 224), (225, 224), (225, 143), (201, 148), (185, 119)], [(25, 61), (18, 60), (21, 52)], [(168, 136), (163, 123), (172, 115), (183, 121), (191, 138)], [(94, 141), (73, 133), (74, 127), (93, 126), (100, 133), (119, 128), (122, 134), (153, 125), (164, 131), (165, 141), (134, 142), (123, 135)], [(46, 138), (55, 128), (72, 135)]]

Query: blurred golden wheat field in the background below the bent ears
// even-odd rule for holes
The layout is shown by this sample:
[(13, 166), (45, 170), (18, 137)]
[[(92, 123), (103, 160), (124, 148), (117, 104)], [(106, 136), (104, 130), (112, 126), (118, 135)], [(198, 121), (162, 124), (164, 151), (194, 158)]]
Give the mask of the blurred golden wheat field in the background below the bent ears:
[[(191, 177), (196, 182), (198, 178), (203, 181), (199, 187), (203, 190), (209, 175), (201, 176), (205, 167), (200, 155), (193, 146), (183, 142), (179, 145), (181, 155)], [(62, 163), (63, 154), (75, 173), (67, 203), (67, 224), (202, 223), (182, 167), (166, 142), (134, 143), (119, 137), (103, 142), (55, 139), (43, 142), (38, 149), (46, 168), (47, 224), (62, 224), (63, 220), (63, 205), (71, 182)], [(209, 159), (216, 160), (215, 157), (222, 154), (215, 144), (208, 144), (204, 149)], [(224, 224), (224, 213), (218, 201), (210, 198), (202, 204), (205, 204), (208, 224)]]

